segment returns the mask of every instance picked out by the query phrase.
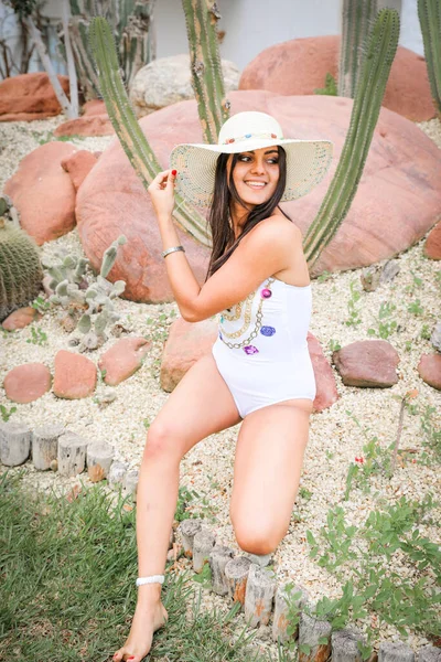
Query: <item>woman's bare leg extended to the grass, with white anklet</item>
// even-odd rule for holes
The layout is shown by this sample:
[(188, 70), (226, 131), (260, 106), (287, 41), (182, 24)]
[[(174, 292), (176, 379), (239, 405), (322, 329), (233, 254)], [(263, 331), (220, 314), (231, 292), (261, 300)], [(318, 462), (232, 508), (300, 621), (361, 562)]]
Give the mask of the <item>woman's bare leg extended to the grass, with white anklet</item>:
[[(205, 437), (240, 420), (212, 354), (203, 356), (170, 394), (148, 433), (137, 492), (140, 577), (164, 572), (182, 457)], [(165, 620), (161, 585), (140, 586), (130, 634), (114, 659), (140, 662), (150, 651), (153, 632)]]

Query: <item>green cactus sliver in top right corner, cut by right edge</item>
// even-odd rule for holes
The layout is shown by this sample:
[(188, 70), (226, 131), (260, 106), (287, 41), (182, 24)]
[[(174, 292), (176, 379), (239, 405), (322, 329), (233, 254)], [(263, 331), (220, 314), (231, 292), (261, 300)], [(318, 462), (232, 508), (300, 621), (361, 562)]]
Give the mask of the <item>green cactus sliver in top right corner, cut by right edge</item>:
[(440, 0), (418, 0), (424, 57), (433, 103), (441, 115), (441, 4)]

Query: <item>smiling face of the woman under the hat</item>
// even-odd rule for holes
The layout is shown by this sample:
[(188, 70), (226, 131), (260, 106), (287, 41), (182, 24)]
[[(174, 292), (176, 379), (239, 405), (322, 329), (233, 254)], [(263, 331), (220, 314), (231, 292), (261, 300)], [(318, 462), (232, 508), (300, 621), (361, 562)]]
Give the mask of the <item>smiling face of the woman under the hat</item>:
[[(228, 161), (228, 178), (233, 157)], [(248, 209), (267, 202), (273, 195), (280, 177), (279, 150), (263, 147), (240, 152), (233, 169), (237, 194)]]

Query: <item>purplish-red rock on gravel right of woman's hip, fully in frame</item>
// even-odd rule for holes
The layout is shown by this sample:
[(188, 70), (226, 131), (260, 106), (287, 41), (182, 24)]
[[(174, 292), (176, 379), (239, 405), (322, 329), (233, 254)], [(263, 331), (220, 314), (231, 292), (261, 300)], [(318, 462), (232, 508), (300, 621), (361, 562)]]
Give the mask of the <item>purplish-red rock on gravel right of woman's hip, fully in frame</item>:
[(332, 359), (346, 386), (387, 388), (398, 382), (399, 355), (386, 340), (352, 342)]

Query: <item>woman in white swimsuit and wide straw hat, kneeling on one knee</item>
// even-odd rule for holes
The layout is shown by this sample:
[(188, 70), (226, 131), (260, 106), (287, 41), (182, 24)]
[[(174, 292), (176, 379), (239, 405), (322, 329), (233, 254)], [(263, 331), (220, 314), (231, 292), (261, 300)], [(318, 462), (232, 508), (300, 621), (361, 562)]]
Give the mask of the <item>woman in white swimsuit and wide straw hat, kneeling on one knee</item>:
[[(149, 186), (182, 317), (222, 316), (213, 351), (187, 371), (149, 428), (137, 492), (138, 602), (118, 662), (140, 662), (166, 621), (160, 594), (180, 461), (195, 444), (243, 421), (230, 503), (237, 543), (268, 554), (287, 533), (315, 381), (302, 237), (279, 202), (308, 193), (331, 158), (327, 140), (283, 139), (269, 115), (239, 113), (222, 127), (218, 145), (178, 146), (172, 169)], [(213, 252), (202, 288), (178, 246), (175, 189), (211, 205)]]

